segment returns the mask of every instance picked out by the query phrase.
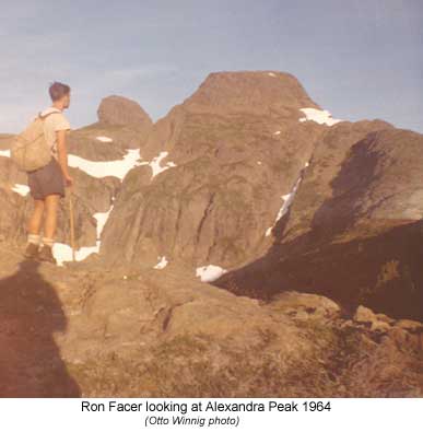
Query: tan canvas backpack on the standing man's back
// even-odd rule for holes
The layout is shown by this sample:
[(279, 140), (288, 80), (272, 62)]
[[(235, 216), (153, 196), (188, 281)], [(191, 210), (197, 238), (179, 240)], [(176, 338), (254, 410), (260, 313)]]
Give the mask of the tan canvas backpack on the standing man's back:
[(44, 120), (50, 114), (38, 113), (31, 124), (19, 133), (10, 148), (10, 157), (21, 171), (35, 171), (46, 166), (51, 160), (51, 149), (44, 135)]

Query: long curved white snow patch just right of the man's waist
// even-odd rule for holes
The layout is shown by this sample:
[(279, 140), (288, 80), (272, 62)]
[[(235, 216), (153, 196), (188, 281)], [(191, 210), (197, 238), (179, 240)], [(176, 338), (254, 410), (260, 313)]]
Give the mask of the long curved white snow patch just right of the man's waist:
[(117, 161), (89, 161), (86, 159), (77, 156), (74, 154), (68, 155), (68, 164), (73, 168), (80, 168), (92, 177), (103, 178), (107, 176), (118, 177), (120, 180), (128, 174), (134, 166), (142, 163), (139, 149), (127, 150), (127, 154), (121, 160)]

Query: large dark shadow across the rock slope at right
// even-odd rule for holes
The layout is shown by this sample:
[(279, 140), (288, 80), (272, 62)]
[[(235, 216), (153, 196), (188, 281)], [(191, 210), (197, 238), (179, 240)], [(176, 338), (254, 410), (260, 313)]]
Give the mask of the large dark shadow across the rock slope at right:
[(284, 218), (265, 256), (213, 284), (261, 300), (289, 290), (318, 293), (349, 313), (363, 304), (396, 318), (423, 320), (423, 220), (361, 215), (363, 194), (376, 176), (372, 137), (351, 148), (330, 184), (332, 197), (314, 213), (308, 232), (287, 240)]

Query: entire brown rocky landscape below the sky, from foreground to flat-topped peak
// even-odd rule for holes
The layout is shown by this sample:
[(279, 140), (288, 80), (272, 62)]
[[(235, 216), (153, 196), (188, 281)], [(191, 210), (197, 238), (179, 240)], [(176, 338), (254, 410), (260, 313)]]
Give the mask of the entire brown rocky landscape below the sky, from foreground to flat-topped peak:
[(1, 396), (423, 396), (422, 135), (277, 71), (211, 73), (154, 125), (97, 114), (69, 135), (64, 267), (22, 259), (0, 135)]

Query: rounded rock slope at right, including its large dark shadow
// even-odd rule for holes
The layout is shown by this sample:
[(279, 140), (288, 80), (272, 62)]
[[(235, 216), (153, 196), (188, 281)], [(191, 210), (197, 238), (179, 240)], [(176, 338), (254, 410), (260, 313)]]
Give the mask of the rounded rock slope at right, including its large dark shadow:
[(258, 297), (317, 292), (423, 319), (423, 137), (379, 121), (356, 126), (346, 151), (336, 137), (355, 125), (334, 126), (316, 147), (274, 245), (216, 284), (234, 279)]

